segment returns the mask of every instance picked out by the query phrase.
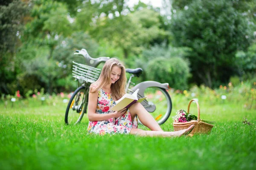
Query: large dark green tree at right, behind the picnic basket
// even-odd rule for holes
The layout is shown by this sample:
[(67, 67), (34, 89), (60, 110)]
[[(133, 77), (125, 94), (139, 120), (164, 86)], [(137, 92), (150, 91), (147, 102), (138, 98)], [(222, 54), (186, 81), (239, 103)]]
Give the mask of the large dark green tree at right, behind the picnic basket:
[(177, 46), (192, 48), (188, 57), (194, 81), (212, 87), (234, 73), (235, 53), (250, 44), (245, 18), (227, 0), (196, 0), (172, 17)]

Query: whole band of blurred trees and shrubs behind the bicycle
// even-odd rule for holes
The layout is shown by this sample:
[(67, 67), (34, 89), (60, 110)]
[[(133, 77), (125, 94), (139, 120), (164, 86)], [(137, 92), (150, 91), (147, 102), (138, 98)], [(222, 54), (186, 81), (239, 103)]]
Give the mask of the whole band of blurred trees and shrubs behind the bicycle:
[[(185, 90), (256, 82), (255, 0), (0, 0), (0, 94), (74, 91), (73, 53), (141, 67)], [(31, 94), (32, 95), (32, 94)]]

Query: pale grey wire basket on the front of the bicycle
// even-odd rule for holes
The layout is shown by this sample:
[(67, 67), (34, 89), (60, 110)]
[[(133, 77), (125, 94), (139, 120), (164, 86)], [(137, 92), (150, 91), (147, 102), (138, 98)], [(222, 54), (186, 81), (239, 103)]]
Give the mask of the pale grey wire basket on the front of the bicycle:
[(95, 82), (99, 78), (101, 69), (91, 67), (89, 65), (80, 64), (73, 61), (73, 77), (76, 79), (82, 79), (85, 82)]

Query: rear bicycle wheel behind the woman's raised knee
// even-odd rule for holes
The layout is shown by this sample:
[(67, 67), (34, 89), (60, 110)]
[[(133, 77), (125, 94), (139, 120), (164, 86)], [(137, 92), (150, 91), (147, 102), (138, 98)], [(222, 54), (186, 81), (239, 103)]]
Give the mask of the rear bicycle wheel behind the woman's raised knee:
[(153, 116), (159, 125), (166, 122), (172, 111), (172, 100), (166, 89), (148, 87), (145, 89), (144, 95), (147, 98), (141, 104), (148, 113)]

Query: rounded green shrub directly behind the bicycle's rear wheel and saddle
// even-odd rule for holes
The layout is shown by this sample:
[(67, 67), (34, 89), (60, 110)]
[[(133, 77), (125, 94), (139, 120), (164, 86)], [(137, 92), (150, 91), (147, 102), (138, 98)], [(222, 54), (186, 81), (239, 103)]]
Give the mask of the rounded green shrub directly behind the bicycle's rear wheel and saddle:
[(148, 80), (168, 82), (170, 87), (184, 90), (188, 87), (189, 67), (179, 57), (170, 59), (159, 57), (148, 63), (146, 75)]

